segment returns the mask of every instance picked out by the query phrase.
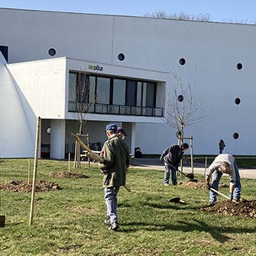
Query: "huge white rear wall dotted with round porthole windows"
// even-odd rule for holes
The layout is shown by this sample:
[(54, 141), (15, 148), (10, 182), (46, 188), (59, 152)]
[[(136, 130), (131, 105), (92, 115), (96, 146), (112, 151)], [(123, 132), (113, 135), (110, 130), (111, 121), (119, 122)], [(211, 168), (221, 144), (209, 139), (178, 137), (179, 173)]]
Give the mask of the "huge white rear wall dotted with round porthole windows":
[[(196, 102), (204, 92), (203, 103), (193, 115), (196, 120), (204, 116), (204, 121), (185, 128), (184, 133), (193, 136), (194, 153), (218, 154), (222, 138), (226, 153), (256, 154), (256, 149), (250, 147), (256, 135), (253, 104), (256, 26), (3, 8), (0, 17), (5, 24), (0, 26), (0, 45), (9, 47), (10, 63), (69, 57), (116, 66), (106, 68), (105, 73), (109, 75), (118, 75), (122, 67), (128, 67), (121, 72), (128, 77), (141, 77), (141, 70), (152, 70), (152, 79), (156, 75), (154, 80), (166, 81), (170, 94), (171, 73), (177, 73), (179, 66), (185, 88), (188, 83), (196, 82)], [(54, 57), (48, 54), (51, 47), (57, 51)], [(125, 60), (118, 60), (119, 53), (125, 54)], [(180, 58), (186, 60), (185, 65), (180, 66)], [(242, 64), (241, 70), (237, 69), (238, 63)], [(72, 64), (67, 66), (68, 70)], [(19, 71), (15, 72), (16, 76)], [(160, 73), (170, 76), (159, 79)], [(54, 90), (53, 87), (53, 95)], [(241, 104), (235, 105), (236, 98), (241, 99)], [(58, 104), (53, 106), (53, 112), (45, 111), (45, 118), (64, 115), (63, 99), (54, 99)], [(31, 108), (37, 114), (40, 108), (33, 104)], [(71, 117), (66, 113), (65, 118)], [(135, 144), (147, 154), (161, 153), (169, 144), (177, 142), (177, 129), (164, 122), (153, 124), (156, 119), (145, 118), (145, 122), (152, 121), (148, 124), (143, 118), (131, 116), (91, 115), (90, 118), (102, 122), (136, 122)], [(237, 140), (233, 138), (235, 132), (239, 134)]]

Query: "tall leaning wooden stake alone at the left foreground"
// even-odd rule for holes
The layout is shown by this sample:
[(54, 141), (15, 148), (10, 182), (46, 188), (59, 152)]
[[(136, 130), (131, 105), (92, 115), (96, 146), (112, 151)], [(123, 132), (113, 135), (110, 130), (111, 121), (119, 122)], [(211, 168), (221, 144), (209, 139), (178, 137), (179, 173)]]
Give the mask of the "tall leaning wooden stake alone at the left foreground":
[(34, 214), (34, 194), (36, 188), (36, 181), (37, 181), (37, 160), (38, 160), (38, 144), (39, 144), (39, 135), (40, 135), (40, 116), (37, 117), (37, 137), (36, 137), (36, 144), (34, 150), (34, 175), (33, 175), (33, 186), (32, 186), (32, 194), (31, 194), (31, 215), (29, 218), (29, 225), (33, 223), (33, 214)]

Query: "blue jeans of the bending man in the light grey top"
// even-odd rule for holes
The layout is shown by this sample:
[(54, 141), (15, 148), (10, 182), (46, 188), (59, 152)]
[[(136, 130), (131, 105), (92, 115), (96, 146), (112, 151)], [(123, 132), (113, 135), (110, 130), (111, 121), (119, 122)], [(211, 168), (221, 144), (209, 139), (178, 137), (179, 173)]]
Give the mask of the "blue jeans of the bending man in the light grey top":
[[(237, 165), (234, 163), (234, 167), (235, 167), (235, 190), (233, 193), (233, 197), (234, 199), (240, 199), (241, 196), (241, 183), (240, 183), (240, 175), (238, 172), (238, 167)], [(218, 190), (219, 188), (219, 180), (222, 177), (222, 172), (219, 171), (214, 171), (214, 173), (212, 173), (212, 189)], [(212, 190), (210, 191), (210, 202), (215, 203), (216, 202), (216, 196), (217, 193), (213, 192)]]

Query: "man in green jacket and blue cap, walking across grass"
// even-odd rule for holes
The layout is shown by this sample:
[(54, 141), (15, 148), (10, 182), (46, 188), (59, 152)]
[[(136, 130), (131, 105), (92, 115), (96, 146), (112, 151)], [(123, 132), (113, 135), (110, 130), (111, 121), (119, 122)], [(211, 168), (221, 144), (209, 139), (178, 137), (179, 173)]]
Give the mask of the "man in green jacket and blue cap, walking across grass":
[(117, 194), (120, 186), (125, 185), (126, 173), (128, 173), (130, 155), (128, 146), (122, 138), (118, 137), (117, 126), (107, 125), (105, 131), (108, 140), (104, 143), (104, 162), (99, 164), (99, 168), (104, 173), (103, 187), (105, 193), (105, 204), (107, 206), (108, 219), (105, 223), (109, 224), (109, 229), (117, 230)]

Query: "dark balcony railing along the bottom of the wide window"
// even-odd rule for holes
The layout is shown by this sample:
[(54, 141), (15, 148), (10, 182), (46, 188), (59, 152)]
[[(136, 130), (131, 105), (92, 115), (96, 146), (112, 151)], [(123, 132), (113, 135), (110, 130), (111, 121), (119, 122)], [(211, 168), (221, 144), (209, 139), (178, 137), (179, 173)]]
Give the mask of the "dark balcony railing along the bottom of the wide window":
[[(84, 105), (87, 112), (96, 114), (109, 114), (109, 115), (141, 115), (141, 116), (155, 116), (162, 117), (162, 108), (148, 108), (148, 107), (136, 107), (128, 105), (109, 105), (109, 104), (99, 104), (94, 105)], [(78, 112), (76, 102), (69, 102), (69, 112)]]

